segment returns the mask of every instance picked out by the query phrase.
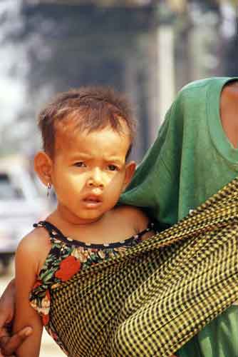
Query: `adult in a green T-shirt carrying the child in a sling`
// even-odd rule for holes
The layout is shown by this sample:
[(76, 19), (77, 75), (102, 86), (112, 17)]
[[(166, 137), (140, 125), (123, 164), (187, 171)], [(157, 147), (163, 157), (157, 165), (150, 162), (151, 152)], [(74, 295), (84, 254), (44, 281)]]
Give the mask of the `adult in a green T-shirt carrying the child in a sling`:
[[(161, 229), (186, 216), (237, 176), (237, 115), (238, 78), (205, 79), (185, 86), (121, 201), (145, 207)], [(10, 295), (6, 291), (0, 308), (12, 313)], [(237, 331), (238, 308), (231, 306), (177, 356), (238, 356)]]

